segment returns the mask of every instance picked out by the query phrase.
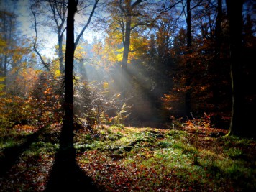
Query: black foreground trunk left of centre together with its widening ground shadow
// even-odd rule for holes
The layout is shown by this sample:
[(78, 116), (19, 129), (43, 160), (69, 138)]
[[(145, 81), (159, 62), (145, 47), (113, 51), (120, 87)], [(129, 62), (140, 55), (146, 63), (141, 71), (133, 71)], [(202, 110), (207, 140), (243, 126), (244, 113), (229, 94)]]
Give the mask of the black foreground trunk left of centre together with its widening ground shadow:
[(60, 133), (60, 149), (45, 191), (99, 191), (76, 164), (73, 146), (73, 63), (74, 63), (74, 17), (78, 0), (68, 0), (67, 38), (65, 50), (65, 102), (63, 129)]

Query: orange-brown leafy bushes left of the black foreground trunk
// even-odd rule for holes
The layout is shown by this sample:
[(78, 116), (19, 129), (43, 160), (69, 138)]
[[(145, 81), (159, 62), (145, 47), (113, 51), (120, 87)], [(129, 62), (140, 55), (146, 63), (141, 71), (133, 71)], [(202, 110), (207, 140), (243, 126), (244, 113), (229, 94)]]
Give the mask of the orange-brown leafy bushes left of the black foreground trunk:
[[(24, 72), (24, 73), (23, 73)], [(6, 95), (0, 98), (0, 123), (4, 127), (13, 124), (45, 124), (58, 121), (62, 115), (60, 111), (60, 96), (56, 94), (56, 86), (48, 80), (47, 74), (38, 74), (33, 68), (21, 70), (17, 84), (22, 83), (20, 91), (24, 96)], [(40, 79), (38, 78), (40, 77)], [(44, 81), (44, 83), (40, 82)]]

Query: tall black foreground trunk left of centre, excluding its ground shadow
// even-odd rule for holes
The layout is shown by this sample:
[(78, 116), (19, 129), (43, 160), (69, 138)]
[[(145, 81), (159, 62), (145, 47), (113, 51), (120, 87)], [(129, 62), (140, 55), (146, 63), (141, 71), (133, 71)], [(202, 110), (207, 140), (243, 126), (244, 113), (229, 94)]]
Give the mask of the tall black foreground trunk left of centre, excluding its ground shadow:
[(64, 119), (62, 130), (62, 145), (68, 146), (73, 143), (73, 63), (74, 63), (74, 17), (77, 10), (77, 1), (68, 1), (68, 18), (67, 18), (67, 40), (65, 50), (65, 103)]

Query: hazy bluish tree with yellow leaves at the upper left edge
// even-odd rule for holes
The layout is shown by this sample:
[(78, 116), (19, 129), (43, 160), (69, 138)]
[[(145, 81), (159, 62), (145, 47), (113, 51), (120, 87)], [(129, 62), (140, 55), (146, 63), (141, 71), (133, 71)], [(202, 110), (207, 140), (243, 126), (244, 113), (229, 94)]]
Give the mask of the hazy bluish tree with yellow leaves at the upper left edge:
[(30, 52), (28, 40), (19, 37), (17, 15), (14, 12), (0, 11), (0, 77), (6, 91), (8, 81), (22, 68), (24, 58)]

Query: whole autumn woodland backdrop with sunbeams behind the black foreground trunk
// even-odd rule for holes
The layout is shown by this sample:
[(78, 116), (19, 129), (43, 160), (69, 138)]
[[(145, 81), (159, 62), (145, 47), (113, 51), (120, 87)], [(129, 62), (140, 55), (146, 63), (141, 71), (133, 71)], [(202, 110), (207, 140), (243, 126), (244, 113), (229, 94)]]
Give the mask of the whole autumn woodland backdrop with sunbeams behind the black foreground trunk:
[[(21, 7), (1, 1), (2, 127), (63, 121), (67, 3), (27, 1), (24, 36)], [(79, 1), (76, 12), (74, 67), (66, 69), (76, 123), (170, 127), (197, 118), (229, 129), (233, 74), (242, 119), (234, 134), (254, 135), (255, 1)], [(98, 36), (89, 42), (89, 33)], [(52, 42), (42, 37), (50, 35), (47, 54)]]

